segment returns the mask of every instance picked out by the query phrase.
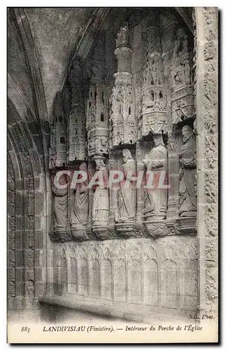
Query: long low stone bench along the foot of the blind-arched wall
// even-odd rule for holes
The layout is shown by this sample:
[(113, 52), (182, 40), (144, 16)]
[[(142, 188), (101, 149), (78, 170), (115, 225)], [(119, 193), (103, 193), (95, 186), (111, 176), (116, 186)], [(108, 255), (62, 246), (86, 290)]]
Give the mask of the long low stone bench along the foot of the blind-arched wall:
[(81, 297), (80, 295), (50, 296), (39, 298), (41, 304), (50, 304), (66, 309), (86, 312), (106, 318), (122, 318), (127, 321), (138, 323), (151, 323), (158, 325), (159, 322), (188, 321), (190, 312), (160, 307), (147, 307), (141, 304), (124, 304), (117, 302), (104, 302), (103, 300)]

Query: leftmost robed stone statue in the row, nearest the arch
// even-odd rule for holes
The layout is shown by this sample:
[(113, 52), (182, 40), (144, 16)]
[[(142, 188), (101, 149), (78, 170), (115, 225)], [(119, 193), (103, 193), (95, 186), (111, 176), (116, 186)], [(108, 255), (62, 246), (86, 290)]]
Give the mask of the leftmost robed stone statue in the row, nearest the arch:
[[(59, 179), (59, 184), (64, 185), (66, 183), (66, 177), (61, 176)], [(52, 181), (52, 192), (54, 193), (54, 230), (65, 230), (67, 225), (68, 188), (57, 188)]]

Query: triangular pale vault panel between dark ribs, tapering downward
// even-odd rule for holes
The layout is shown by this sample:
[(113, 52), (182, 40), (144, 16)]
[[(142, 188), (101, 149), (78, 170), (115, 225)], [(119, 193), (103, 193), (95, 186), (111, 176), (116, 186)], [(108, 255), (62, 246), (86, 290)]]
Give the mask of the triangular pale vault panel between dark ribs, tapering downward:
[(69, 57), (92, 18), (94, 8), (27, 8), (31, 33), (40, 59), (48, 109), (61, 90)]

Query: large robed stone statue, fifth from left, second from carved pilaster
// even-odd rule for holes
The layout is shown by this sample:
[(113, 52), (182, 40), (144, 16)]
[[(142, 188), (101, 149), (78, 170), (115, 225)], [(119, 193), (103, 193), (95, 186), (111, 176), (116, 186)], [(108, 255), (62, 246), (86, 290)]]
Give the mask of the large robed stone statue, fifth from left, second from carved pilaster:
[[(168, 170), (168, 153), (161, 134), (153, 136), (154, 148), (148, 155), (145, 155), (147, 172), (154, 172), (152, 183), (145, 188), (145, 214), (147, 220), (163, 220), (166, 218), (168, 190), (162, 188), (161, 184), (166, 185)], [(147, 180), (149, 179), (147, 174)], [(160, 180), (161, 179), (161, 180)], [(150, 188), (152, 187), (152, 188)]]

